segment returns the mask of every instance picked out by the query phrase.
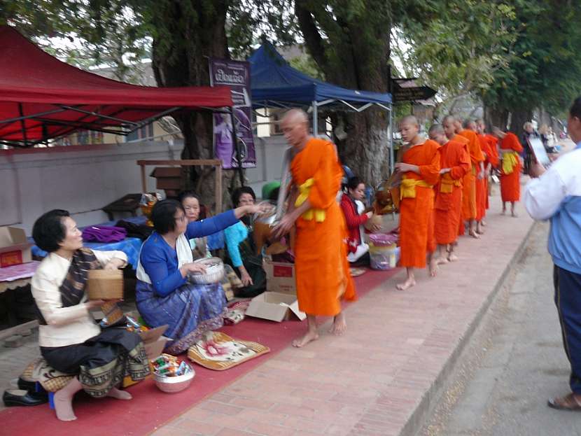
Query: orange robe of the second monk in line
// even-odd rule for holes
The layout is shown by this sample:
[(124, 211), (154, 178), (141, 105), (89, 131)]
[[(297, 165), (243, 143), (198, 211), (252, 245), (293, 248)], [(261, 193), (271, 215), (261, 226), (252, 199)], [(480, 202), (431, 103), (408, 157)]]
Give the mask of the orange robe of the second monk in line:
[[(408, 148), (402, 162), (417, 165), (420, 174), (407, 171), (402, 178), (420, 181), (427, 186), (416, 185), (415, 197), (403, 197), (400, 201), (400, 266), (425, 268), (429, 239), (434, 230), (434, 190), (440, 178), (440, 144), (430, 139), (423, 144)], [(400, 187), (400, 190), (402, 188)]]

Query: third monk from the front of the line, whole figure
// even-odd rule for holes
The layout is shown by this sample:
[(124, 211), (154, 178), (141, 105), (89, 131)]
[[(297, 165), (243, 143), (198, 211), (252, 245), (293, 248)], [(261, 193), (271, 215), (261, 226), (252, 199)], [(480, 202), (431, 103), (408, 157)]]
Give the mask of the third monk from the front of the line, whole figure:
[(458, 239), (458, 223), (462, 211), (462, 181), (470, 171), (470, 155), (461, 142), (454, 141), (454, 123), (433, 125), (428, 132), (430, 139), (440, 147), (440, 181), (436, 185), (434, 205), (434, 234), (438, 247), (437, 264), (451, 262), (454, 242)]

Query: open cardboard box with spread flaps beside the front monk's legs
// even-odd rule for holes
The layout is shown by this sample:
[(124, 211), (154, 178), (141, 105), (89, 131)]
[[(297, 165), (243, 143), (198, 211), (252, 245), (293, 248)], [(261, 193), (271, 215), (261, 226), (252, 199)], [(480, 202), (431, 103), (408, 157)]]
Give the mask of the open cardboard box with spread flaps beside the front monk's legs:
[(248, 304), (246, 315), (279, 323), (290, 319), (302, 321), (307, 318), (307, 314), (299, 310), (296, 295), (274, 292), (265, 292), (254, 297)]

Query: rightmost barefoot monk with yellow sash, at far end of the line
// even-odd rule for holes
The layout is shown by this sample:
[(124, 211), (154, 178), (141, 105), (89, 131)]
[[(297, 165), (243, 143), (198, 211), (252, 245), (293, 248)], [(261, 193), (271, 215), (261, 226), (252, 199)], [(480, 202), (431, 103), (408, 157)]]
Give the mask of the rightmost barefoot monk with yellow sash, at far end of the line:
[(522, 145), (517, 135), (511, 132), (503, 132), (498, 127), (493, 128), (493, 134), (500, 141), (499, 151), (502, 156), (500, 163), (500, 197), (503, 200), (503, 214), (506, 213), (506, 204), (510, 202), (510, 214), (516, 217), (514, 213), (514, 203), (518, 202), (521, 197), (521, 158)]

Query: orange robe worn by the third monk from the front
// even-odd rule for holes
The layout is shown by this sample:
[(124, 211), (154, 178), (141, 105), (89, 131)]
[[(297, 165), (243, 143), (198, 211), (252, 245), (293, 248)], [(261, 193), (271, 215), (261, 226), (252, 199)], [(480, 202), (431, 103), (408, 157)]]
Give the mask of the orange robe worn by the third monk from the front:
[[(470, 171), (470, 155), (464, 144), (448, 141), (442, 146), (440, 167), (451, 170), (447, 175), (440, 177), (440, 182), (437, 184), (434, 233), (437, 244), (446, 245), (458, 239), (458, 225), (462, 211), (462, 181)], [(450, 189), (451, 192), (445, 192)]]

